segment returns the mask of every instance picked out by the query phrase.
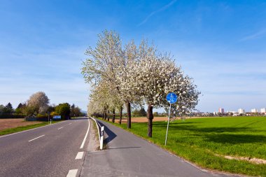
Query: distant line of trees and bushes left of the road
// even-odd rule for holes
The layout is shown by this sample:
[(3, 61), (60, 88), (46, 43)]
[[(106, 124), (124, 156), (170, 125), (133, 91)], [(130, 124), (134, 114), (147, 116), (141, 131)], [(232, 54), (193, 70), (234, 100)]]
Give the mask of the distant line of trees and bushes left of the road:
[(48, 120), (48, 116), (61, 115), (62, 120), (83, 116), (80, 108), (75, 104), (52, 104), (45, 92), (36, 92), (25, 103), (20, 103), (17, 108), (12, 104), (0, 105), (0, 118), (36, 118)]

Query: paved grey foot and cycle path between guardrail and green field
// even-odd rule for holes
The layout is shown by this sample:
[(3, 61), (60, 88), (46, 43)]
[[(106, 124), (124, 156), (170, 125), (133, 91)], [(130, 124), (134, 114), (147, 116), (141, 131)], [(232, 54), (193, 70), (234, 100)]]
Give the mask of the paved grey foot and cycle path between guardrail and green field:
[(100, 122), (109, 148), (88, 152), (80, 176), (230, 176), (199, 169), (130, 132)]

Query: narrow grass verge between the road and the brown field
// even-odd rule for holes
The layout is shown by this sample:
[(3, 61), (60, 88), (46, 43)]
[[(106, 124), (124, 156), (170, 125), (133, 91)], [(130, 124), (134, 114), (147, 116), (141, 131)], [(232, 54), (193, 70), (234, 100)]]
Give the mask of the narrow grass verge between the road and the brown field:
[[(52, 122), (52, 124), (55, 124), (57, 122), (61, 122), (61, 121), (54, 121)], [(6, 134), (13, 134), (13, 133), (17, 133), (17, 132), (22, 132), (25, 131), (27, 129), (34, 129), (37, 127), (43, 127), (45, 125), (50, 125), (50, 122), (41, 122), (39, 124), (34, 124), (34, 125), (26, 125), (26, 126), (21, 126), (21, 127), (15, 127), (15, 128), (10, 128), (10, 129), (3, 129), (0, 131), (0, 136), (2, 135), (6, 135)]]

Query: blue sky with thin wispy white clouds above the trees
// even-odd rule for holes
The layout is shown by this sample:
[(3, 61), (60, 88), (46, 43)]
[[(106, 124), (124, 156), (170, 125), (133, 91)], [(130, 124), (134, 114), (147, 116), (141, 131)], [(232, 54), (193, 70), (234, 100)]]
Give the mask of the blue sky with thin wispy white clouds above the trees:
[(0, 104), (34, 92), (86, 110), (80, 74), (104, 29), (171, 52), (202, 92), (200, 111), (266, 107), (266, 1), (13, 1), (0, 3)]

